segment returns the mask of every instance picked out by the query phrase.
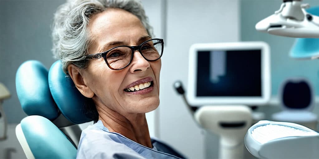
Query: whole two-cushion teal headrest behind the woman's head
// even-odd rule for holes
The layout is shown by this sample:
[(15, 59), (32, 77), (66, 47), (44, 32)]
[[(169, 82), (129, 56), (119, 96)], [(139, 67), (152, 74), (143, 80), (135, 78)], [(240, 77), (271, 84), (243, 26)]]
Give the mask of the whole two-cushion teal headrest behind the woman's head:
[(16, 89), (23, 111), (51, 121), (60, 112), (74, 124), (91, 121), (85, 116), (85, 97), (56, 61), (48, 71), (39, 61), (26, 61), (16, 74)]

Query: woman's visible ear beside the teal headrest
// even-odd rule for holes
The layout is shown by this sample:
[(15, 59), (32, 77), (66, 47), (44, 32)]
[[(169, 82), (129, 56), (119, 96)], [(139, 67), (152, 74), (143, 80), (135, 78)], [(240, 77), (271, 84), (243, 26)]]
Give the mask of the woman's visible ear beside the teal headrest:
[(70, 64), (68, 66), (68, 72), (73, 80), (75, 86), (87, 98), (92, 98), (94, 96), (94, 92), (85, 84), (83, 76), (80, 72), (81, 70), (75, 66), (74, 64)]

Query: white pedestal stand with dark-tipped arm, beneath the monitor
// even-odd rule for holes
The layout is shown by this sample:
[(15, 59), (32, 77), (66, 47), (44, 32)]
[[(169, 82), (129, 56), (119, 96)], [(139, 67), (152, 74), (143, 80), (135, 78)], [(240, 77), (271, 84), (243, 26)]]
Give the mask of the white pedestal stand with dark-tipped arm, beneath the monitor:
[(189, 104), (181, 81), (174, 83), (174, 89), (182, 95), (196, 123), (209, 132), (219, 135), (219, 158), (243, 158), (244, 136), (252, 122), (251, 109), (243, 105), (194, 107)]

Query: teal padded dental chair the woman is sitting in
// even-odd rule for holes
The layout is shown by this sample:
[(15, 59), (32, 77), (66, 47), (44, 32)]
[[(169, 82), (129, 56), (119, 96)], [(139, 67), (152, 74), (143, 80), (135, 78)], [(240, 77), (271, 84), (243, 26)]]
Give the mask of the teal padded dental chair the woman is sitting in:
[[(28, 115), (16, 135), (28, 159), (76, 158), (81, 136), (78, 124), (89, 122), (85, 98), (62, 70), (60, 60), (49, 71), (39, 61), (26, 61), (17, 70), (16, 89)], [(166, 143), (152, 138), (159, 151), (185, 158)]]

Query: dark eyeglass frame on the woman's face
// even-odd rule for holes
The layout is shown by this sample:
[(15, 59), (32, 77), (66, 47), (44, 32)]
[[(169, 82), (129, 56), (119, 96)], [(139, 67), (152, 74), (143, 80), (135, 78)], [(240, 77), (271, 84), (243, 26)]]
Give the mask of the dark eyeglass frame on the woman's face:
[[(159, 41), (161, 42), (161, 44), (162, 44), (162, 51), (161, 51), (161, 53), (160, 53), (159, 58), (154, 59), (154, 60), (149, 60), (149, 59), (146, 59), (145, 56), (143, 55), (143, 53), (142, 53), (142, 51), (141, 51), (141, 47), (142, 47), (145, 43), (147, 43), (147, 42), (149, 42), (149, 41), (152, 41), (152, 40), (159, 40)], [(110, 52), (111, 50), (113, 50), (113, 49), (115, 49), (115, 48), (118, 48), (118, 47), (128, 47), (128, 48), (130, 48), (130, 49), (132, 50), (132, 53), (131, 53), (130, 62), (129, 62), (126, 66), (124, 66), (124, 67), (122, 67), (122, 68), (119, 68), (119, 69), (115, 69), (115, 68), (112, 68), (112, 67), (110, 66), (110, 64), (108, 63), (108, 60), (106, 59), (106, 55), (107, 55), (108, 52)], [(149, 40), (144, 41), (142, 44), (140, 44), (140, 45), (138, 45), (138, 46), (127, 46), (127, 45), (116, 46), (116, 47), (113, 47), (113, 48), (111, 48), (111, 49), (109, 49), (109, 50), (107, 50), (107, 51), (105, 51), (105, 52), (96, 53), (96, 54), (90, 54), (90, 55), (85, 55), (85, 59), (86, 59), (86, 60), (90, 60), (90, 59), (100, 59), (101, 57), (103, 57), (104, 61), (106, 62), (106, 64), (108, 65), (108, 67), (109, 67), (110, 69), (112, 69), (112, 70), (122, 70), (122, 69), (124, 69), (125, 67), (127, 67), (127, 66), (129, 66), (129, 65), (131, 64), (131, 62), (132, 62), (132, 60), (133, 60), (134, 52), (135, 52), (136, 50), (138, 50), (138, 52), (142, 55), (142, 57), (143, 57), (146, 61), (156, 61), (156, 60), (160, 59), (160, 58), (162, 57), (162, 55), (163, 55), (164, 40), (163, 40), (163, 39), (160, 39), (160, 38), (153, 38), (153, 39), (149, 39)]]

